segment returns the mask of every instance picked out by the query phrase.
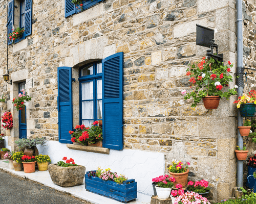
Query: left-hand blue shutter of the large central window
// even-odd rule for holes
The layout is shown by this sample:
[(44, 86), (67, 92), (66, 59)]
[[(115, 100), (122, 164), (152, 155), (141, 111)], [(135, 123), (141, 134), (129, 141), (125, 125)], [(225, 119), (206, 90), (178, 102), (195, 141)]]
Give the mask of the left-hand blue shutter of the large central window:
[(58, 122), (61, 143), (72, 143), (69, 134), (73, 130), (72, 116), (72, 68), (58, 67)]

